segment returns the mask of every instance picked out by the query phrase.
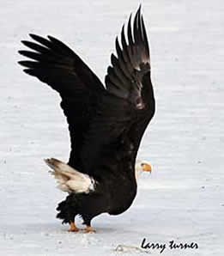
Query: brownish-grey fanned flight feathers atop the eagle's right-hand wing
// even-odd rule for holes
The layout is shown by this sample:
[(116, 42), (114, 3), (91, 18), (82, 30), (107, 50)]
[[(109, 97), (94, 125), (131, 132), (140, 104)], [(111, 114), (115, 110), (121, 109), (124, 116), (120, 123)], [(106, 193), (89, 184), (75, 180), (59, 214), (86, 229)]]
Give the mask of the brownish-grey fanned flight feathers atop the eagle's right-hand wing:
[[(147, 86), (150, 89), (152, 88), (150, 87), (148, 39), (141, 15), (141, 7), (137, 10), (134, 17), (133, 29), (130, 15), (127, 26), (127, 39), (123, 26), (121, 30), (122, 47), (117, 38), (115, 46), (118, 58), (115, 58), (112, 54), (112, 67), (107, 72), (106, 88), (110, 93), (130, 101), (130, 104), (142, 109), (148, 104), (147, 101), (144, 102), (142, 88)], [(148, 76), (148, 82), (145, 82), (145, 84), (142, 83), (145, 81), (143, 76)]]

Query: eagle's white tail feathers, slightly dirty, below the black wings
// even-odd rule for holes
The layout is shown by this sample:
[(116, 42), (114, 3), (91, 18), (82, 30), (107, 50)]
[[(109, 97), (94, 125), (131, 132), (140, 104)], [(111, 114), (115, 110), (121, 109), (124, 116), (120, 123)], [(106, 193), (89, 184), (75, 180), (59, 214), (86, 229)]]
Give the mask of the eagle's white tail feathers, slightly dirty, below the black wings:
[(45, 163), (53, 169), (50, 173), (58, 181), (58, 188), (64, 192), (90, 192), (94, 191), (95, 181), (88, 174), (82, 174), (71, 168), (68, 164), (51, 158)]

